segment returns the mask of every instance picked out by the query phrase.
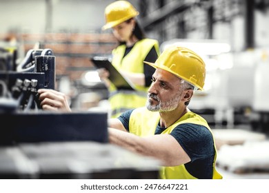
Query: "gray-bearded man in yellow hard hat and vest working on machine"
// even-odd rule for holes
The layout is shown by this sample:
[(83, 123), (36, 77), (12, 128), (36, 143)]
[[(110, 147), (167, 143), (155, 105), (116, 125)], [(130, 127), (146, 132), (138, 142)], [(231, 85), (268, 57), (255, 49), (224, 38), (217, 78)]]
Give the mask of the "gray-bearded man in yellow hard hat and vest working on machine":
[[(146, 107), (110, 119), (110, 143), (162, 161), (161, 179), (222, 179), (215, 169), (217, 150), (210, 127), (188, 109), (194, 90), (203, 90), (203, 59), (188, 48), (171, 46), (155, 63), (145, 63), (156, 68)], [(70, 110), (56, 91), (39, 93), (43, 109)]]

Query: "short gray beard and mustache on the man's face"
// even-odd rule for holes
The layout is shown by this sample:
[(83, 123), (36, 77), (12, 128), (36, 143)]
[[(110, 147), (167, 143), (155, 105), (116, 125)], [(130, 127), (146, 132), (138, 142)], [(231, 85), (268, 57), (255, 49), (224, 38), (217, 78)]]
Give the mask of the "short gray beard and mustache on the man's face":
[(181, 92), (178, 92), (173, 99), (170, 99), (169, 101), (164, 101), (163, 103), (161, 102), (159, 97), (156, 96), (158, 101), (157, 105), (152, 105), (152, 102), (150, 102), (150, 100), (148, 99), (146, 102), (146, 107), (148, 110), (153, 112), (168, 112), (171, 110), (175, 110), (179, 105), (180, 94)]

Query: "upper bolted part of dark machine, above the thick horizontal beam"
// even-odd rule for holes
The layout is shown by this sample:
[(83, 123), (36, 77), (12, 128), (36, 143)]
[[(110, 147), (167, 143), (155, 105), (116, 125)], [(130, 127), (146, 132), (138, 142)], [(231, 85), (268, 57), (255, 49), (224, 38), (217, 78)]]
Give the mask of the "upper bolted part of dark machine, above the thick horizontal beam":
[(0, 112), (40, 109), (37, 90), (54, 89), (55, 85), (55, 57), (52, 50), (29, 50), (15, 67), (11, 57), (8, 53), (1, 55)]

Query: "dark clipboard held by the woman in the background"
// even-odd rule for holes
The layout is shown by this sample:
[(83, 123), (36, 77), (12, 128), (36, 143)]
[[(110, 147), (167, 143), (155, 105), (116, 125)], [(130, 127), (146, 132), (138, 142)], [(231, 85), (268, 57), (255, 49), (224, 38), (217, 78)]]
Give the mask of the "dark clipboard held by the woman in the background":
[(135, 85), (126, 77), (114, 68), (106, 57), (92, 57), (90, 61), (94, 64), (95, 68), (106, 68), (110, 73), (108, 79), (116, 86), (118, 90), (135, 90)]

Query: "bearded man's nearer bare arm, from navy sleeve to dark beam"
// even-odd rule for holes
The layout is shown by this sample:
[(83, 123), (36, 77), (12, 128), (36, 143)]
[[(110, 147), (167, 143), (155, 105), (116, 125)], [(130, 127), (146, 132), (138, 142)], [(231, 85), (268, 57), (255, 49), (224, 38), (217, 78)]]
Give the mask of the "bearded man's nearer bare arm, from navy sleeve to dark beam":
[(175, 166), (190, 162), (188, 154), (170, 134), (140, 137), (119, 129), (108, 128), (108, 136), (110, 143), (120, 145), (132, 152), (155, 157), (164, 166)]

